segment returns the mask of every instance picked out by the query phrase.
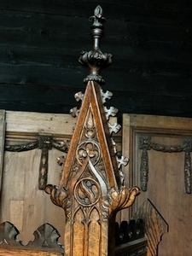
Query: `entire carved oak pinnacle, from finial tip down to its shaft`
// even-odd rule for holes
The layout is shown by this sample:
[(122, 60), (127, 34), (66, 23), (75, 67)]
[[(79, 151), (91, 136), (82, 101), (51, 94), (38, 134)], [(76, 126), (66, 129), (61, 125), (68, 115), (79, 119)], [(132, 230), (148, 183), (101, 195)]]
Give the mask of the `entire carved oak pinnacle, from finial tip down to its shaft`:
[[(71, 111), (73, 116), (78, 116), (77, 125), (61, 182), (58, 187), (48, 185), (45, 189), (55, 205), (66, 212), (67, 256), (113, 256), (114, 243), (108, 247), (110, 221), (116, 212), (130, 207), (139, 194), (137, 187), (127, 189), (124, 186), (120, 167), (127, 164), (128, 159), (117, 159), (111, 133), (119, 131), (119, 125), (108, 123), (108, 117), (117, 113), (117, 109), (103, 106), (112, 94), (103, 93), (100, 84), (97, 84), (103, 84), (99, 73), (105, 63), (101, 58), (106, 56), (99, 49), (103, 29), (100, 23), (103, 20), (101, 7), (97, 7), (95, 18), (91, 20), (95, 20), (91, 32), (94, 44), (88, 56), (92, 52), (94, 54), (87, 60), (89, 65), (86, 63), (90, 76), (85, 79), (84, 95), (79, 93), (80, 98), (76, 95), (76, 99), (82, 101), (80, 110), (73, 108)], [(96, 54), (97, 51), (100, 54)], [(96, 71), (97, 66), (100, 67)]]

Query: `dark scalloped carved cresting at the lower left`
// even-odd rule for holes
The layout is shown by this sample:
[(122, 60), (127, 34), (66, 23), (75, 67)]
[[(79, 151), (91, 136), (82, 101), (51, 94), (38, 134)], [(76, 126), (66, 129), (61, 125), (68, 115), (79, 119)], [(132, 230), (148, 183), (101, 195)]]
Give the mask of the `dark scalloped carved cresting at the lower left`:
[(34, 241), (29, 241), (27, 245), (24, 245), (22, 241), (18, 241), (16, 237), (20, 232), (16, 229), (14, 224), (4, 222), (0, 224), (0, 245), (3, 248), (18, 248), (18, 249), (30, 249), (64, 253), (64, 246), (58, 242), (60, 234), (50, 224), (41, 225), (38, 230), (33, 233)]

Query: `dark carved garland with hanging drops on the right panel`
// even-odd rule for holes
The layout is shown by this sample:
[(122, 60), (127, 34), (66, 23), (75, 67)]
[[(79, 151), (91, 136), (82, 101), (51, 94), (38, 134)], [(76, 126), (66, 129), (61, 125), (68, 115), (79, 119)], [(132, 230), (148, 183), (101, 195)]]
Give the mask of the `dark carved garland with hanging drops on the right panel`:
[(161, 145), (153, 143), (150, 136), (139, 137), (139, 148), (143, 149), (142, 160), (140, 166), (140, 180), (141, 189), (147, 191), (148, 187), (148, 150), (153, 149), (163, 153), (180, 153), (184, 152), (184, 182), (185, 191), (187, 194), (191, 194), (192, 180), (191, 180), (191, 157), (192, 152), (192, 139), (183, 139), (180, 145)]

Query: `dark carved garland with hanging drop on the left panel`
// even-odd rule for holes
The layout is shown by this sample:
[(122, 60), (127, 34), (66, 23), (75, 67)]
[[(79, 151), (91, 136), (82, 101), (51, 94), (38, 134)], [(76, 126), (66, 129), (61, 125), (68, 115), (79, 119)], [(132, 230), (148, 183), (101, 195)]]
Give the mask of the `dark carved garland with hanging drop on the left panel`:
[(6, 145), (5, 150), (10, 152), (23, 152), (35, 148), (42, 150), (39, 165), (38, 189), (44, 190), (47, 184), (49, 150), (56, 148), (61, 152), (67, 153), (69, 145), (69, 140), (57, 142), (53, 140), (52, 135), (39, 135), (38, 140), (35, 142), (20, 145)]

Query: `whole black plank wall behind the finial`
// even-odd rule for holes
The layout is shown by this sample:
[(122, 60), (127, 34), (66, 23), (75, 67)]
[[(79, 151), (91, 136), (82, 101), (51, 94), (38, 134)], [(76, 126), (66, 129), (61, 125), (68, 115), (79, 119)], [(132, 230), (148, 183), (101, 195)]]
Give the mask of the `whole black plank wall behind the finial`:
[(69, 113), (88, 71), (88, 21), (100, 4), (107, 18), (102, 71), (108, 106), (121, 113), (191, 117), (192, 2), (157, 0), (0, 0), (0, 108)]

